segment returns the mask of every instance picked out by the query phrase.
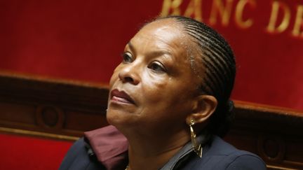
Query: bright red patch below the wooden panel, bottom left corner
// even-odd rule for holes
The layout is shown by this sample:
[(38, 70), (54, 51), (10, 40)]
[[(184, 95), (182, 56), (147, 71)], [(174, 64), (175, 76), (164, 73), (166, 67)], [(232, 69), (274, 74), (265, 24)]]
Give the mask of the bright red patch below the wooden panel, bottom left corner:
[(0, 169), (58, 169), (72, 142), (0, 134)]

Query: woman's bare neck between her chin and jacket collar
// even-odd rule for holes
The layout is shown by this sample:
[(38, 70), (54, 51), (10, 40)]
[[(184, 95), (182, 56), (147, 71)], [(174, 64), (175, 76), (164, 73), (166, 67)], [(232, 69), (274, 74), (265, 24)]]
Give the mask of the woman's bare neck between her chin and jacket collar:
[(171, 136), (169, 134), (156, 137), (128, 136), (128, 169), (160, 169), (170, 160), (188, 141), (187, 132), (180, 132)]

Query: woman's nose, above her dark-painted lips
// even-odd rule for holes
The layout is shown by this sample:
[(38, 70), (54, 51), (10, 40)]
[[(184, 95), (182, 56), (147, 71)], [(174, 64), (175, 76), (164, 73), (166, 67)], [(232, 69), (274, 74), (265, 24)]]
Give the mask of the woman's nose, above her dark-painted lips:
[(139, 68), (134, 63), (124, 66), (119, 72), (119, 78), (123, 83), (137, 85), (140, 82)]

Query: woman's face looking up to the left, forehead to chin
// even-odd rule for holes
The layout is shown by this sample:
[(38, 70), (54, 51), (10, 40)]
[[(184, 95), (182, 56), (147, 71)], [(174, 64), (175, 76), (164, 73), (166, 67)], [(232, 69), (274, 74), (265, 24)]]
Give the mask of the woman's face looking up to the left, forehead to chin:
[(191, 45), (173, 19), (143, 27), (126, 45), (110, 80), (108, 122), (123, 128), (183, 128), (198, 96)]

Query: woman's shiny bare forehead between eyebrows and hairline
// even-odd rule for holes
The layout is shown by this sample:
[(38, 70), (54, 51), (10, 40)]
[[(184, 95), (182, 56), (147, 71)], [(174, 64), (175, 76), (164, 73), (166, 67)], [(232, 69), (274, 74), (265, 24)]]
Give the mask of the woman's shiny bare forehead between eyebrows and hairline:
[(134, 49), (144, 52), (163, 51), (176, 55), (175, 57), (186, 57), (188, 37), (182, 31), (180, 24), (175, 20), (156, 20), (145, 25), (135, 36), (130, 40), (127, 48), (132, 44)]

